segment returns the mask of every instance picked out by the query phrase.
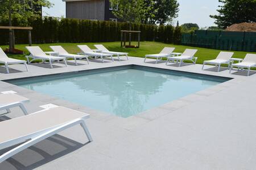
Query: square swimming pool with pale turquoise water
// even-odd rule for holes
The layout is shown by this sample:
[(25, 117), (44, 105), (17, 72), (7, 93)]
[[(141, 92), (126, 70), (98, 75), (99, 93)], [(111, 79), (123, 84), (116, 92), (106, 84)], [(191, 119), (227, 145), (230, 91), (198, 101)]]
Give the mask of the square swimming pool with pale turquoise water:
[(228, 80), (128, 65), (6, 82), (127, 118)]

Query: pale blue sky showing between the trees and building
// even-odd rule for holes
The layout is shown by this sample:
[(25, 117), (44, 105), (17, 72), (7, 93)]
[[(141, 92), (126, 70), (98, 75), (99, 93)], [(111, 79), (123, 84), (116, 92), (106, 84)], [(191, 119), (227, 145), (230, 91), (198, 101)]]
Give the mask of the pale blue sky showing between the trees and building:
[[(65, 2), (62, 0), (49, 0), (54, 4), (50, 9), (43, 8), (43, 15), (47, 16), (64, 16)], [(218, 0), (177, 0), (180, 3), (179, 16), (174, 20), (183, 23), (197, 23), (199, 27), (215, 26), (214, 20), (209, 15), (217, 14)]]

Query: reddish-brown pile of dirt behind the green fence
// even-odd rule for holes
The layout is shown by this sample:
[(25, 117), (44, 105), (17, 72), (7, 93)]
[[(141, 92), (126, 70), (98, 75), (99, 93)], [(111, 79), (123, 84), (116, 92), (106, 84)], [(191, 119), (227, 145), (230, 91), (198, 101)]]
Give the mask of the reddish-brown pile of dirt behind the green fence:
[(256, 32), (256, 23), (240, 23), (233, 24), (232, 26), (226, 28), (225, 31), (238, 31), (238, 32)]

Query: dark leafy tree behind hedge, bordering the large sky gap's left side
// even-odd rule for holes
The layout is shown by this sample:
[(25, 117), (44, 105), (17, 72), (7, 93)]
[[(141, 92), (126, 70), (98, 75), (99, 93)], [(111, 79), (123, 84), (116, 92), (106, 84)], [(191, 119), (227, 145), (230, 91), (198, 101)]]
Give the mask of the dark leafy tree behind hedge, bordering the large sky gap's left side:
[(144, 1), (148, 8), (146, 18), (142, 21), (148, 24), (165, 24), (177, 18), (179, 12), (179, 3), (177, 0), (146, 0)]

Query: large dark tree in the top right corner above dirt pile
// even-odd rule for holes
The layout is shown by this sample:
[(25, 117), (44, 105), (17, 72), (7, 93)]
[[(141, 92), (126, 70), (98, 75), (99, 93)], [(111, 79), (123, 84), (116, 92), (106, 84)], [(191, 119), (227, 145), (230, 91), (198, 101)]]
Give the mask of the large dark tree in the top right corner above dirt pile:
[(223, 5), (218, 15), (210, 15), (219, 28), (226, 28), (236, 23), (256, 22), (256, 0), (218, 0)]

